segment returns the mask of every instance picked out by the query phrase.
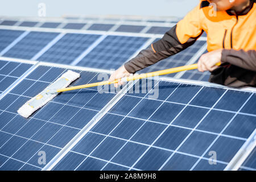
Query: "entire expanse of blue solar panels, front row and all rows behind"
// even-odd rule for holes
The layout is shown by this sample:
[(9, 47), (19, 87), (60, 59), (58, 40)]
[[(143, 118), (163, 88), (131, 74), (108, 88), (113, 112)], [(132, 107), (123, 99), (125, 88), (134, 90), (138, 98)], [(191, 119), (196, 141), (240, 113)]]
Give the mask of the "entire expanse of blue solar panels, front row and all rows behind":
[[(159, 40), (170, 28), (165, 23), (176, 21), (105, 20), (0, 23), (0, 55), (18, 59), (0, 60), (0, 170), (225, 169), (256, 129), (255, 92), (168, 78), (140, 80), (121, 92), (88, 88), (61, 93), (27, 119), (16, 112), (67, 69), (81, 74), (71, 86), (101, 81), (102, 72), (91, 68), (117, 69)], [(16, 25), (40, 27), (6, 29)], [(141, 72), (193, 64), (205, 52), (200, 38)], [(209, 73), (167, 77), (207, 81)], [(153, 88), (145, 85), (148, 81)], [(140, 92), (132, 92), (137, 86)], [(46, 164), (39, 163), (42, 151)], [(209, 164), (211, 152), (217, 153), (217, 164)], [(254, 156), (255, 150), (240, 169), (255, 170)]]

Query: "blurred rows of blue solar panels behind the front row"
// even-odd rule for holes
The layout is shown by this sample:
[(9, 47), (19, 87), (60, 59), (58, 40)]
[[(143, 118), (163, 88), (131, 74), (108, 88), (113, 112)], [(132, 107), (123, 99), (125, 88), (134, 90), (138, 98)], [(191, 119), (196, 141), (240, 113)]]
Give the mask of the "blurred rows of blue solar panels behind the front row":
[[(77, 20), (75, 17), (68, 19), (69, 21), (65, 21), (65, 23), (57, 22), (57, 20), (54, 20), (53, 22), (36, 22), (35, 20), (18, 22), (18, 20), (3, 20), (3, 26), (15, 26), (18, 24), (19, 27), (40, 26), (49, 29), (44, 30), (47, 32), (27, 32), (27, 35), (20, 38), (20, 40), (17, 40), (16, 43), (11, 45), (10, 49), (4, 51), (2, 55), (20, 59), (36, 59), (51, 63), (81, 65), (100, 69), (117, 69), (120, 65), (131, 59), (132, 56), (135, 56), (135, 53), (138, 53), (140, 49), (146, 48), (150, 43), (161, 38), (163, 34), (170, 30), (170, 28), (177, 22), (174, 18), (172, 18), (172, 20), (114, 18), (80, 18)], [(69, 31), (101, 31), (100, 34), (97, 35), (105, 36), (105, 38), (97, 40), (94, 39), (97, 35), (91, 35), (92, 39), (88, 40), (82, 38), (83, 35), (77, 35), (73, 32), (68, 34), (64, 33), (65, 35), (62, 38), (61, 35), (57, 36), (61, 31), (59, 31), (59, 33), (51, 32), (51, 28), (63, 28), (63, 30), (68, 29)], [(102, 31), (105, 31), (105, 33)], [(106, 36), (109, 31), (113, 32), (113, 35)], [(115, 35), (114, 32), (117, 32), (117, 35)], [(120, 33), (121, 35), (119, 35)], [(134, 38), (136, 37), (134, 41), (133, 38), (128, 38), (126, 36), (129, 33), (137, 34), (134, 36)], [(85, 34), (86, 36), (86, 32), (82, 32), (82, 34)], [(92, 34), (92, 32), (90, 32), (90, 34)], [(90, 35), (87, 36), (89, 37)], [(155, 36), (158, 38), (155, 39)], [(170, 57), (170, 59), (162, 60), (158, 64), (152, 65), (148, 69), (144, 69), (142, 72), (151, 70), (158, 71), (160, 69), (185, 65), (191, 63), (189, 60), (191, 60), (194, 55), (196, 58), (193, 59), (192, 63), (195, 63), (203, 53), (201, 49), (205, 49), (205, 36), (206, 34), (203, 34), (203, 39), (191, 48)], [(81, 38), (81, 40), (79, 40), (79, 38)], [(151, 39), (151, 42), (147, 42), (148, 39)], [(112, 43), (118, 42), (118, 44), (115, 43), (115, 45), (111, 45), (108, 42), (110, 40)], [(109, 46), (106, 46), (105, 44), (109, 44)], [(88, 47), (90, 45), (94, 46)], [(117, 49), (119, 50), (117, 51)], [(122, 51), (120, 49), (122, 49)], [(114, 51), (116, 53), (114, 53)], [(38, 53), (38, 55), (36, 55), (36, 53)], [(106, 62), (106, 59), (108, 59), (108, 62)], [(168, 75), (168, 77), (208, 81), (209, 72), (200, 73), (196, 71), (186, 71), (177, 76), (176, 74), (172, 74)]]

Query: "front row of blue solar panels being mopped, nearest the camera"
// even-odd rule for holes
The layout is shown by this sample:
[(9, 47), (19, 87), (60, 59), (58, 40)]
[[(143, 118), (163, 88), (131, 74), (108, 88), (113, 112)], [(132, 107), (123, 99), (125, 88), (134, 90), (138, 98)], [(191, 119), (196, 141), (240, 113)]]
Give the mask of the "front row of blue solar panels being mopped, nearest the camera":
[[(51, 161), (117, 94), (70, 91), (28, 119), (16, 113), (66, 71), (39, 65), (0, 100), (1, 170), (43, 169), (38, 152)], [(76, 72), (81, 77), (72, 86), (95, 82), (99, 74)], [(153, 85), (158, 98), (150, 97), (152, 90), (128, 91), (53, 169), (222, 170), (255, 130), (255, 93), (171, 81)], [(217, 152), (216, 165), (209, 165), (209, 151)]]

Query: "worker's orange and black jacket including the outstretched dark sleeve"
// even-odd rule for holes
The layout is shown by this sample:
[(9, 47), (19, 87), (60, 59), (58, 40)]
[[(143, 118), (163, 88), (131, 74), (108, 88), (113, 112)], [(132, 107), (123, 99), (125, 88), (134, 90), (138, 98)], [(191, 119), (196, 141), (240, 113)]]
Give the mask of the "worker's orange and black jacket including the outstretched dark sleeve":
[(125, 63), (135, 73), (191, 46), (205, 31), (207, 49), (223, 49), (221, 66), (212, 71), (209, 81), (226, 86), (256, 86), (256, 3), (242, 12), (213, 11), (208, 1), (180, 20), (158, 42)]

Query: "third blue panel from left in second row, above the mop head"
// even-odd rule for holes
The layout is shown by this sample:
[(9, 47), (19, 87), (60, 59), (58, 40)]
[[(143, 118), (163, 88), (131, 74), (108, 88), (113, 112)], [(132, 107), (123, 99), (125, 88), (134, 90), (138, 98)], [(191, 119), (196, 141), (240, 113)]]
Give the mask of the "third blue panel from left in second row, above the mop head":
[(39, 61), (71, 64), (76, 57), (93, 44), (100, 35), (66, 34), (51, 48), (49, 48)]

